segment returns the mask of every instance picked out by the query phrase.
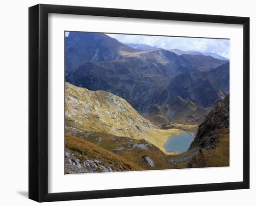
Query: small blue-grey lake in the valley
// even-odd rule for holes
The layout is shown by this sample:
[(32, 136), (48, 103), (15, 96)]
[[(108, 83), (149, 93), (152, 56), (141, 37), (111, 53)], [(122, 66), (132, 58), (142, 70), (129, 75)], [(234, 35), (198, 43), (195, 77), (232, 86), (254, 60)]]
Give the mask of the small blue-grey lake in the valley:
[(164, 148), (168, 153), (184, 153), (189, 149), (194, 137), (190, 133), (182, 133), (168, 137)]

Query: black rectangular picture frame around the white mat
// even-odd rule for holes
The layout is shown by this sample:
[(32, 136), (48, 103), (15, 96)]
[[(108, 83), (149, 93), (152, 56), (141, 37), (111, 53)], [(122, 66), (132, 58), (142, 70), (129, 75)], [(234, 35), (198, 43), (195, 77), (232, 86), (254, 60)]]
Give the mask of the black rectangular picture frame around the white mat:
[[(80, 14), (243, 25), (243, 181), (48, 193), (48, 14)], [(29, 199), (38, 202), (98, 199), (249, 188), (249, 18), (39, 4), (29, 8)]]

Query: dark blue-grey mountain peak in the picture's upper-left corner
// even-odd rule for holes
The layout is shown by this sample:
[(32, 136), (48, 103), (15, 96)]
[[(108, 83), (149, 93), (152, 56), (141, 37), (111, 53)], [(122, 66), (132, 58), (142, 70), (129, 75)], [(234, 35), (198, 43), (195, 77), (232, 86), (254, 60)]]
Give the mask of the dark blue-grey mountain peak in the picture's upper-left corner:
[(85, 62), (115, 60), (122, 58), (121, 52), (135, 51), (103, 33), (69, 32), (65, 37), (66, 74)]

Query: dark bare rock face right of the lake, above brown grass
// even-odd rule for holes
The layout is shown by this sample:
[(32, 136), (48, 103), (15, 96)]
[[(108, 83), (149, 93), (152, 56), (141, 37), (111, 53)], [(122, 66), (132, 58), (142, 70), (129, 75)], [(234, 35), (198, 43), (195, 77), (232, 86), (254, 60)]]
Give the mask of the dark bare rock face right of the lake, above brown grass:
[(201, 147), (202, 149), (216, 148), (216, 134), (227, 128), (229, 128), (229, 95), (206, 116), (199, 126), (189, 149), (195, 147)]

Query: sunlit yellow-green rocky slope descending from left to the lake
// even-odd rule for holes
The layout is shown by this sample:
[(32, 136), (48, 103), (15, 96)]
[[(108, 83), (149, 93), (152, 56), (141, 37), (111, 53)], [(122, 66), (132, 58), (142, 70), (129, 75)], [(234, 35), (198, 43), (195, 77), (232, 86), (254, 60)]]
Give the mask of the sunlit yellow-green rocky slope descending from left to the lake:
[(122, 98), (106, 91), (90, 91), (66, 83), (66, 130), (107, 133), (119, 137), (145, 139), (166, 153), (163, 145), (181, 129), (157, 129)]

